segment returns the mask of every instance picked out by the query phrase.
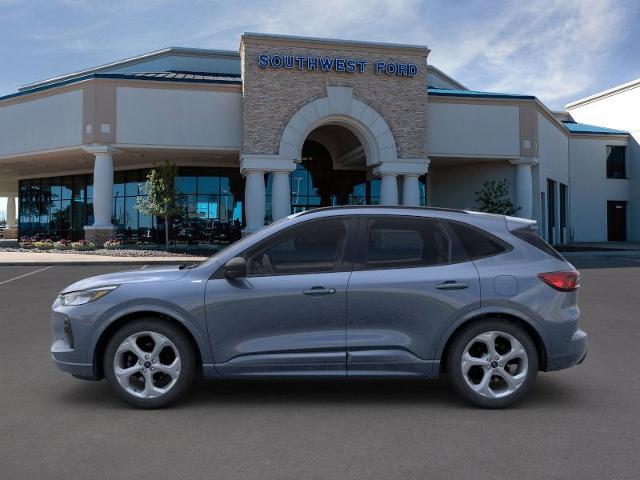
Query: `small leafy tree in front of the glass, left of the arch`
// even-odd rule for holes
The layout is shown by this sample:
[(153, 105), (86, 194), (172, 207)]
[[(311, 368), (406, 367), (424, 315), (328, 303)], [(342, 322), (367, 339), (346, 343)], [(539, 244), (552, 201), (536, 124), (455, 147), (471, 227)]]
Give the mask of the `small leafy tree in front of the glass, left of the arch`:
[(143, 215), (164, 219), (165, 248), (169, 250), (169, 220), (176, 212), (176, 191), (174, 180), (178, 167), (165, 160), (147, 174), (147, 183), (143, 184), (146, 197), (138, 197), (136, 210)]

